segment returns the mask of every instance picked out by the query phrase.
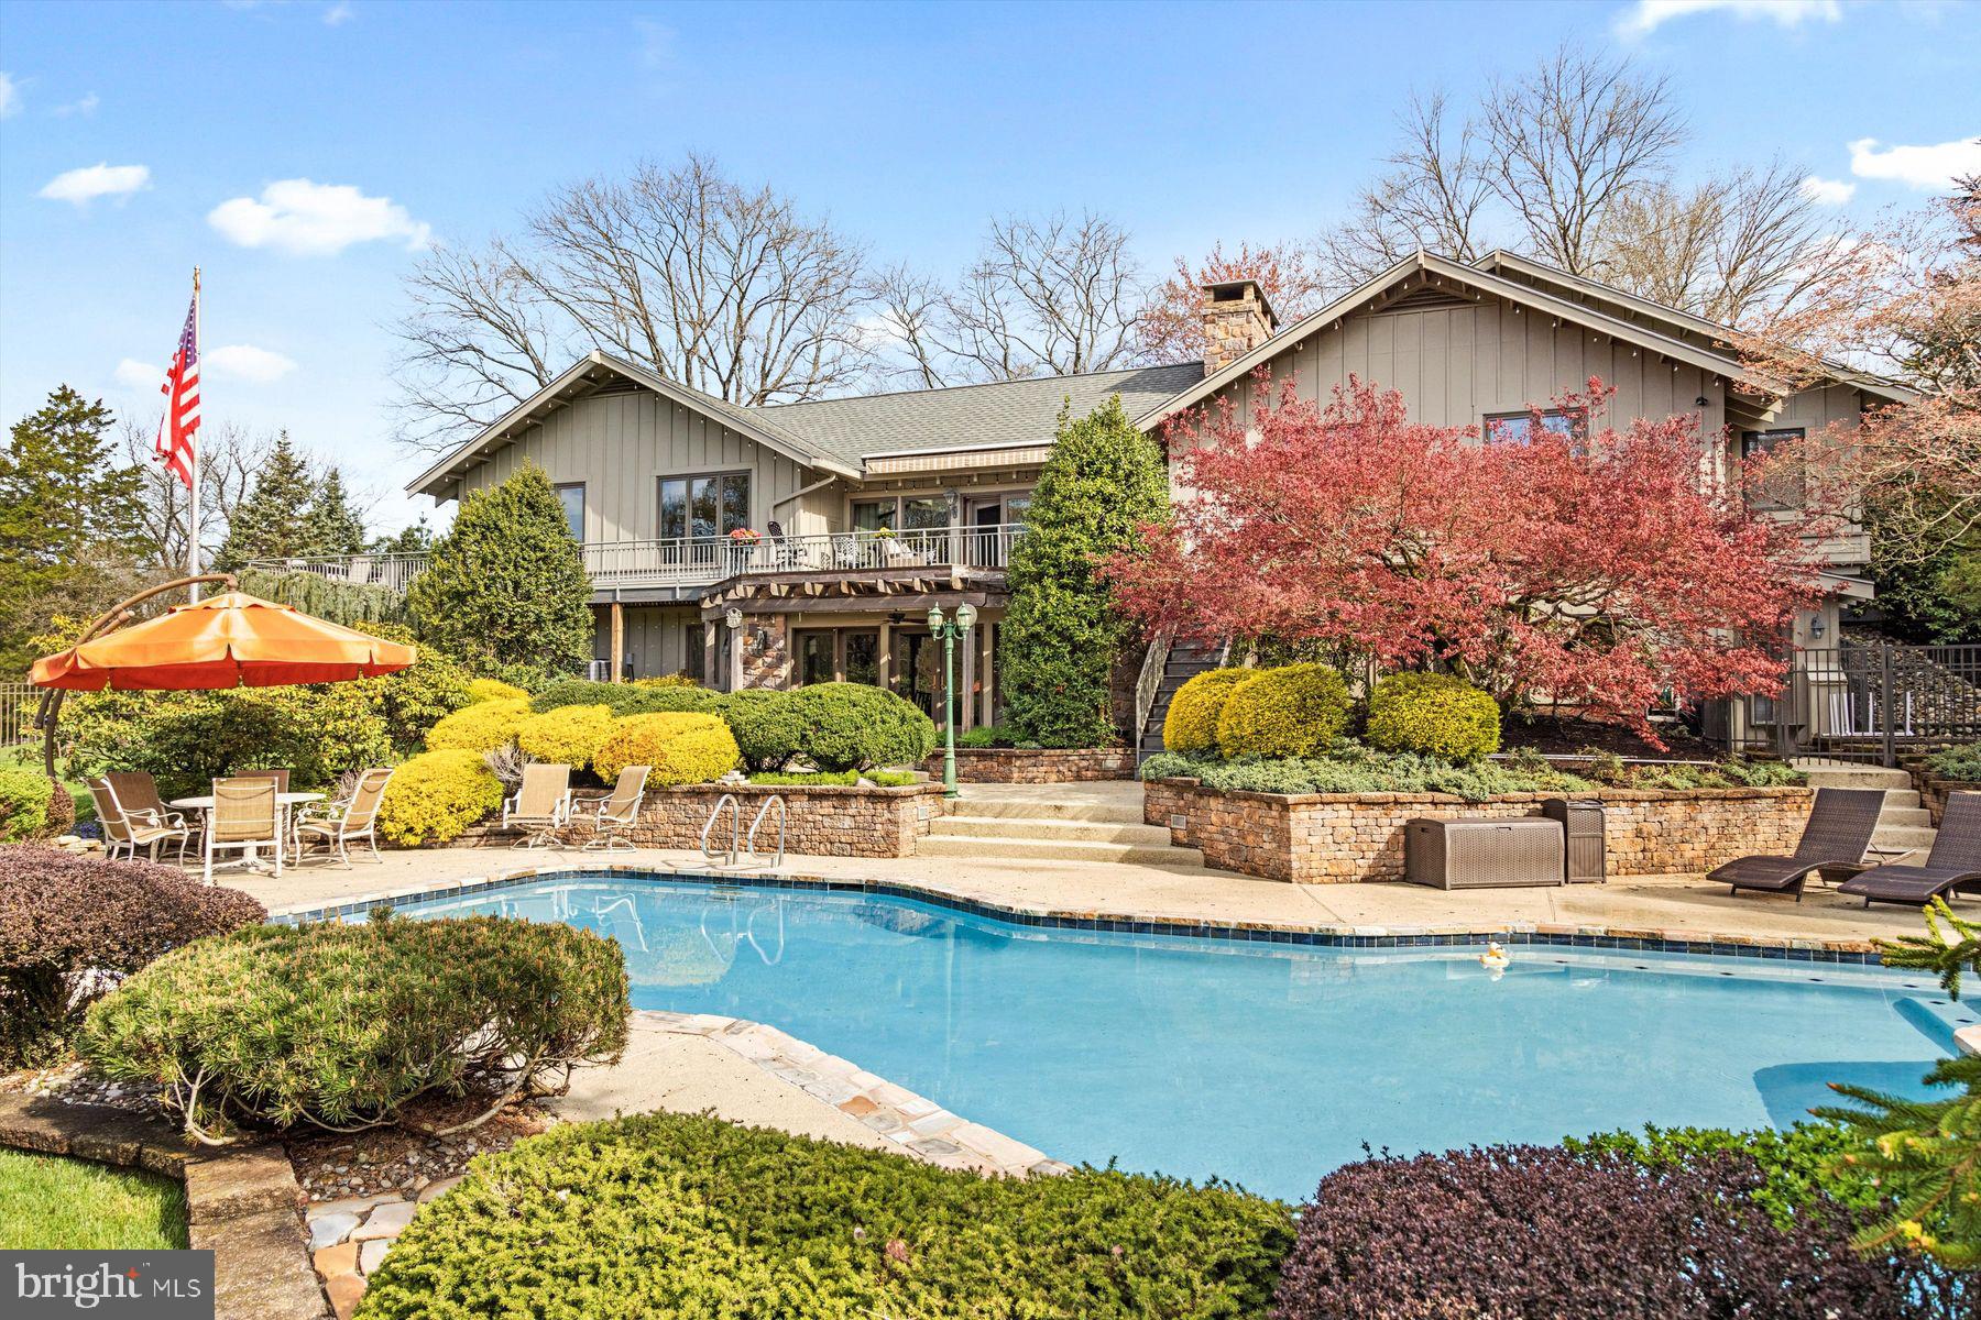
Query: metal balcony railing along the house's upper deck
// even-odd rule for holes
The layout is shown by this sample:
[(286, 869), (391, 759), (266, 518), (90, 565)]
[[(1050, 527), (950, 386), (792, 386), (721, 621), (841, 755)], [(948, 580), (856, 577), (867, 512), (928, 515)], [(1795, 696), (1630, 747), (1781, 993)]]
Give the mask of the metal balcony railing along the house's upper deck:
[[(1004, 568), (1022, 522), (935, 526), (826, 536), (664, 536), (584, 544), (584, 570), (598, 588), (711, 586), (745, 574), (836, 574), (889, 568)], [(313, 574), (329, 582), (404, 592), (426, 572), (426, 554), (349, 554), (256, 560), (263, 572)]]

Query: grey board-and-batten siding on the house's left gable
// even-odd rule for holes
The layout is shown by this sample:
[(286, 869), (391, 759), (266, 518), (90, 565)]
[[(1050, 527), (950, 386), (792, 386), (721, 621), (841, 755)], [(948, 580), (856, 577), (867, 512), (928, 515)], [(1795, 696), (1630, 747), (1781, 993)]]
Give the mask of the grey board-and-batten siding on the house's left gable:
[(525, 461), (553, 485), (584, 483), (586, 542), (660, 536), (660, 477), (733, 471), (751, 475), (751, 526), (779, 519), (798, 534), (808, 528), (794, 507), (771, 507), (818, 481), (802, 463), (648, 390), (590, 394), (525, 427), (462, 479), (462, 495), (501, 485)]

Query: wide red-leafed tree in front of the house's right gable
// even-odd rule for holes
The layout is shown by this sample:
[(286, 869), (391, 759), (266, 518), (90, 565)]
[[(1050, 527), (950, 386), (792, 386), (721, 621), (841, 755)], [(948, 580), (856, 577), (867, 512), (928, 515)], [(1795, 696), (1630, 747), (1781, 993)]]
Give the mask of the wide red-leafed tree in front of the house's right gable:
[(1169, 437), (1173, 520), (1107, 576), (1149, 629), (1448, 669), (1508, 707), (1644, 736), (1666, 691), (1779, 691), (1777, 643), (1819, 598), (1819, 528), (1753, 511), (1696, 418), (1597, 429), (1609, 394), (1555, 400), (1575, 433), (1535, 412), (1525, 443), (1412, 424), (1403, 396), (1353, 378), (1325, 408), (1288, 384), (1246, 420), (1197, 414)]

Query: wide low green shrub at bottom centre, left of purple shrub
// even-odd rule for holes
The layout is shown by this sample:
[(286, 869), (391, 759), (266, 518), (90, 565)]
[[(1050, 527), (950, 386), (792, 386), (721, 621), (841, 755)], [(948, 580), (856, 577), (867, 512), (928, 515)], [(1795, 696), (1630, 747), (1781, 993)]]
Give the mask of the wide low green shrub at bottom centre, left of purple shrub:
[(1286, 1205), (1228, 1185), (992, 1179), (640, 1114), (477, 1160), (398, 1237), (359, 1316), (1236, 1318), (1266, 1310), (1290, 1239)]

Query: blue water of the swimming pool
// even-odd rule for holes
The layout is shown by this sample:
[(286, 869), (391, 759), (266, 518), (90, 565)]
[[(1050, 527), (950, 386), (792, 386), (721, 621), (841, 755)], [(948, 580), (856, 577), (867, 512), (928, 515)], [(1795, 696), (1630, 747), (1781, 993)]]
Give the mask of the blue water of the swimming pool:
[(634, 1007), (767, 1021), (1070, 1162), (1303, 1197), (1363, 1144), (1795, 1122), (1918, 1081), (1975, 1013), (1931, 980), (1755, 958), (1302, 948), (1042, 930), (848, 893), (565, 879), (404, 908), (563, 920)]

